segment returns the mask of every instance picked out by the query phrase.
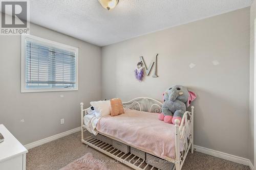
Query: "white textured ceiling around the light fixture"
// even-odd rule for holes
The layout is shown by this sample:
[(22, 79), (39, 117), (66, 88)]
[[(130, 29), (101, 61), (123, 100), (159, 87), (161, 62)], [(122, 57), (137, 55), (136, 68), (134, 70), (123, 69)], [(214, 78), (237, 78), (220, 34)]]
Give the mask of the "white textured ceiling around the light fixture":
[(97, 0), (32, 0), (37, 25), (104, 46), (250, 6), (253, 0), (119, 0), (111, 11)]

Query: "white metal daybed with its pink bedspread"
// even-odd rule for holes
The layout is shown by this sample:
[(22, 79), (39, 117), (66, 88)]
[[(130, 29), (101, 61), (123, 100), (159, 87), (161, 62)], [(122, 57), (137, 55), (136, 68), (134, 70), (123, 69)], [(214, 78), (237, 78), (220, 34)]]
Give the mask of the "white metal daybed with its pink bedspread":
[[(168, 169), (180, 170), (190, 148), (193, 153), (193, 106), (191, 106), (191, 112), (184, 113), (179, 126), (178, 119), (175, 125), (158, 120), (161, 102), (150, 98), (136, 98), (123, 103), (124, 114), (99, 118), (96, 126), (99, 135), (92, 134), (87, 137), (83, 132), (89, 126), (86, 120), (89, 118), (86, 116), (90, 107), (83, 109), (83, 103), (80, 106), (82, 143), (134, 169), (148, 169), (150, 166), (150, 169), (168, 167)], [(130, 147), (125, 148), (126, 146), (131, 147), (131, 152)], [(143, 152), (146, 153), (145, 156), (142, 154), (142, 157), (139, 157)], [(157, 162), (149, 162), (149, 158)], [(161, 162), (164, 166), (161, 166)], [(169, 165), (169, 162), (172, 162), (173, 166)]]

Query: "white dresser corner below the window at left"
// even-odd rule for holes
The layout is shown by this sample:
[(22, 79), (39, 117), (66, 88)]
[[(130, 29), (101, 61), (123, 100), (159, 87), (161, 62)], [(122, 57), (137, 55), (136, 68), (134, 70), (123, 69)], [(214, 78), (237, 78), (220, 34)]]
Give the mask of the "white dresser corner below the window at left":
[(0, 125), (0, 133), (5, 140), (0, 143), (0, 169), (25, 170), (28, 150), (6, 129)]

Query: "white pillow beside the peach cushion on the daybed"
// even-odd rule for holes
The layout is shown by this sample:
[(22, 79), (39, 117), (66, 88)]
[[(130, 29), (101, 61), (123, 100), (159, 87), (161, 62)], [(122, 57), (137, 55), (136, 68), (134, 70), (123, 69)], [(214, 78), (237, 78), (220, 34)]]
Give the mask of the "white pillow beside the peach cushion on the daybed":
[(101, 116), (110, 115), (110, 101), (91, 102), (90, 104), (101, 113)]

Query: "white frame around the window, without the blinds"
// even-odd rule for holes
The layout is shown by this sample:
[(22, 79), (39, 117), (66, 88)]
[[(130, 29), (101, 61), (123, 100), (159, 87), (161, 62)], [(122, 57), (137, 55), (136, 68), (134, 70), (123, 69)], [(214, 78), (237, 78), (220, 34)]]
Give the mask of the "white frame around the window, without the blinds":
[[(26, 88), (26, 65), (25, 65), (25, 60), (26, 60), (26, 38), (30, 38), (30, 39), (34, 39), (37, 41), (40, 41), (41, 43), (46, 43), (46, 44), (50, 44), (53, 47), (59, 48), (59, 49), (63, 49), (63, 50), (67, 50), (67, 48), (69, 50), (73, 50), (75, 52), (75, 57), (76, 57), (76, 87), (75, 88), (49, 88), (49, 89), (45, 89), (45, 88), (37, 88), (37, 89), (27, 89)], [(78, 47), (74, 47), (74, 46), (70, 46), (70, 45), (66, 45), (66, 44), (62, 44), (59, 42), (55, 42), (55, 41), (51, 41), (45, 38), (40, 38), (37, 36), (33, 36), (33, 35), (22, 35), (21, 36), (21, 92), (22, 93), (26, 93), (26, 92), (49, 92), (49, 91), (77, 91), (78, 90)]]

